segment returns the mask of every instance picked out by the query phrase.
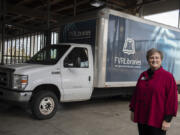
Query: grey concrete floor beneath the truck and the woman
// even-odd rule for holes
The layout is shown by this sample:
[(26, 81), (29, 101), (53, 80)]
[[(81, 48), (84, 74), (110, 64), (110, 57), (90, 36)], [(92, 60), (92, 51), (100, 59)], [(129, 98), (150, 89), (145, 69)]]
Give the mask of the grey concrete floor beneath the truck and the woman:
[[(0, 135), (138, 135), (128, 105), (120, 97), (67, 103), (52, 119), (39, 121), (22, 108), (0, 103)], [(179, 129), (180, 113), (167, 135), (177, 135)]]

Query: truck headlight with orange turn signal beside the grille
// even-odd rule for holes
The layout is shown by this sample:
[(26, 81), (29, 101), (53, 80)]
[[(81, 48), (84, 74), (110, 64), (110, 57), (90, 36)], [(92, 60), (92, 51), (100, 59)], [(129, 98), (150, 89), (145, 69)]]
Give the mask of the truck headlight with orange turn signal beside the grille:
[(26, 88), (27, 84), (28, 84), (28, 76), (27, 75), (14, 74), (13, 89), (23, 90)]

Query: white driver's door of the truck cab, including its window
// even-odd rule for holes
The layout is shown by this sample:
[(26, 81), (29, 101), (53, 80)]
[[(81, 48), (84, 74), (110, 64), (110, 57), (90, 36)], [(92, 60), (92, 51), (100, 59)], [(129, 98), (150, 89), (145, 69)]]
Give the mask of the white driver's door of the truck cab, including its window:
[(75, 47), (63, 60), (62, 89), (64, 100), (79, 101), (91, 97), (93, 66), (88, 48)]

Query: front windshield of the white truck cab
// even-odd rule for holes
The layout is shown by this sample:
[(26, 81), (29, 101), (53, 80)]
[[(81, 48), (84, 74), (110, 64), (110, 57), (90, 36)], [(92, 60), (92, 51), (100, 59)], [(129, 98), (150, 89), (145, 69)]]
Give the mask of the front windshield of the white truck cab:
[(27, 63), (53, 65), (64, 55), (70, 45), (51, 45), (37, 52)]

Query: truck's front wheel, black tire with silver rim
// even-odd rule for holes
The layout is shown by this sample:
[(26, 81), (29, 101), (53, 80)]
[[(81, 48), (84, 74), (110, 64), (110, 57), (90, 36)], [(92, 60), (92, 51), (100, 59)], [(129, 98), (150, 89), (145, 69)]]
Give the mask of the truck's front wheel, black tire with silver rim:
[(53, 92), (39, 91), (31, 102), (32, 114), (36, 119), (44, 120), (53, 117), (57, 111), (58, 99)]

